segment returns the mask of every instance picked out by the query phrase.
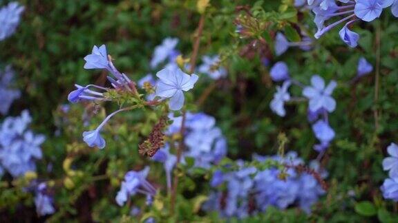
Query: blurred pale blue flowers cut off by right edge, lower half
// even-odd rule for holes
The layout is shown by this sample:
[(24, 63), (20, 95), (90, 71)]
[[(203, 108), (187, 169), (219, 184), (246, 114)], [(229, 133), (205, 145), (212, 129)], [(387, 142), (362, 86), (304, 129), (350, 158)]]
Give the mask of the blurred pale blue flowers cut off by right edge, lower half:
[(383, 169), (388, 171), (388, 176), (380, 187), (383, 197), (398, 202), (398, 145), (391, 143), (387, 147), (390, 157), (384, 158)]

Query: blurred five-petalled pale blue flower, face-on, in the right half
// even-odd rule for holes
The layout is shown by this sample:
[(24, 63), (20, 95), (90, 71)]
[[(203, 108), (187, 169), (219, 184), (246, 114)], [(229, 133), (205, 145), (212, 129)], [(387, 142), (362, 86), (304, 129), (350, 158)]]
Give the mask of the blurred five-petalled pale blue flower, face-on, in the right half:
[(330, 81), (329, 85), (325, 87), (323, 78), (314, 75), (311, 78), (311, 84), (312, 86), (303, 89), (303, 95), (310, 99), (310, 110), (318, 111), (323, 108), (329, 112), (334, 111), (336, 109), (336, 100), (331, 95), (337, 83)]

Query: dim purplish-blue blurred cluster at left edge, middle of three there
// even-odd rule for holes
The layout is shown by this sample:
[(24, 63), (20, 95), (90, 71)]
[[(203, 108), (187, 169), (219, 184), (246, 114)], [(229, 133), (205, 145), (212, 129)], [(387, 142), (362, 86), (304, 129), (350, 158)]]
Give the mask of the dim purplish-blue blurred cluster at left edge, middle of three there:
[(8, 114), (12, 102), (21, 96), (18, 89), (12, 88), (14, 71), (8, 65), (3, 72), (0, 72), (0, 114)]

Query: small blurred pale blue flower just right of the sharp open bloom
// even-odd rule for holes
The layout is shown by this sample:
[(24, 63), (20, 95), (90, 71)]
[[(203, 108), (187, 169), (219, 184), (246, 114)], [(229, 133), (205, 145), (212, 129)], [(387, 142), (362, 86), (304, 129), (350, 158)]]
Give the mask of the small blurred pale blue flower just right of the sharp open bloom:
[(199, 66), (199, 72), (209, 75), (211, 79), (218, 80), (227, 76), (227, 70), (224, 67), (220, 67), (219, 56), (203, 56), (202, 65)]

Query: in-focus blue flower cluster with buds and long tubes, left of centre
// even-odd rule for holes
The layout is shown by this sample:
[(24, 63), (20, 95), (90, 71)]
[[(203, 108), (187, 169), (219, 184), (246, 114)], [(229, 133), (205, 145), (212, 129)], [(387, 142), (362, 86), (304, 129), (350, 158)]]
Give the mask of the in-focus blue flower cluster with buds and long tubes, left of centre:
[[(156, 96), (160, 98), (159, 101), (170, 98), (169, 109), (180, 110), (184, 105), (184, 92), (189, 91), (193, 88), (196, 81), (198, 81), (198, 75), (186, 74), (176, 64), (176, 56), (178, 51), (174, 48), (178, 43), (178, 39), (165, 39), (162, 45), (155, 48), (153, 59), (151, 61), (151, 67), (155, 68), (160, 63), (169, 59), (169, 63), (163, 70), (160, 70), (156, 76), (159, 80), (153, 80), (151, 74), (146, 75), (138, 83), (139, 87), (144, 88), (145, 83), (155, 84), (155, 92), (149, 94), (147, 99), (153, 100)], [(100, 47), (94, 46), (92, 53), (84, 57), (86, 63), (84, 64), (85, 69), (104, 69), (112, 74), (107, 76), (108, 81), (111, 83), (113, 89), (117, 92), (129, 92), (133, 95), (138, 95), (137, 89), (135, 88), (135, 82), (131, 81), (126, 74), (119, 72), (115, 65), (112, 63), (111, 56), (108, 56), (106, 46)], [(78, 103), (81, 100), (90, 100), (95, 102), (106, 101), (104, 93), (109, 92), (109, 88), (98, 86), (98, 85), (75, 85), (77, 89), (70, 92), (68, 100), (70, 103)], [(127, 109), (119, 109), (109, 114), (104, 121), (94, 130), (84, 131), (83, 140), (89, 147), (98, 147), (103, 149), (106, 146), (106, 141), (102, 138), (100, 131), (108, 120), (119, 113), (120, 111), (126, 111)]]

